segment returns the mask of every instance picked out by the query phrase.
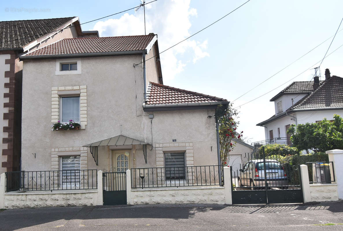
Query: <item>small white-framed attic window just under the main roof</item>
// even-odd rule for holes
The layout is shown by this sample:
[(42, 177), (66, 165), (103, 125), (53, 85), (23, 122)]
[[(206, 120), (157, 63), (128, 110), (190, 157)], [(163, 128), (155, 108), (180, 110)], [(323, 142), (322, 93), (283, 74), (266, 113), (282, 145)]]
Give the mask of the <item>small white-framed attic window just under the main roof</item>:
[(81, 74), (81, 59), (57, 59), (55, 75)]

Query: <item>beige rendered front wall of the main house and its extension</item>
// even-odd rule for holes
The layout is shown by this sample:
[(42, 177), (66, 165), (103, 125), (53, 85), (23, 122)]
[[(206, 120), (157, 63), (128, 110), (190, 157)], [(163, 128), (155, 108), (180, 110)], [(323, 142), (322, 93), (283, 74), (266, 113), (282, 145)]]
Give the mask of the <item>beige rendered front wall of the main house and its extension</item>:
[[(141, 59), (141, 55), (82, 57), (81, 74), (73, 75), (55, 75), (56, 59), (25, 60), (22, 169), (49, 170), (52, 149), (70, 150), (119, 134), (153, 143), (154, 147), (173, 139), (192, 142), (194, 165), (216, 165), (215, 119), (208, 117), (214, 115), (214, 110), (143, 112), (142, 65), (133, 67)], [(51, 131), (51, 88), (68, 86), (87, 88), (87, 125), (77, 131)], [(152, 121), (149, 114), (154, 115)], [(32, 123), (38, 121), (41, 126), (33, 129)], [(150, 150), (148, 145), (147, 164), (142, 145), (129, 149), (131, 166), (156, 166), (155, 148)], [(36, 153), (36, 158), (32, 153)], [(88, 169), (109, 168), (108, 147), (100, 147), (98, 153), (96, 166), (88, 150)]]

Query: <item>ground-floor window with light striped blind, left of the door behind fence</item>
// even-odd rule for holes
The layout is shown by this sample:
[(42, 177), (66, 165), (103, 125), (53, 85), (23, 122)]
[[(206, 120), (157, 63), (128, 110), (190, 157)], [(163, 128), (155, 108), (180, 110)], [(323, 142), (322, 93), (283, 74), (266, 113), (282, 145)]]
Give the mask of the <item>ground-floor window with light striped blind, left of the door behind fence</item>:
[(61, 188), (76, 189), (80, 187), (80, 156), (61, 156)]

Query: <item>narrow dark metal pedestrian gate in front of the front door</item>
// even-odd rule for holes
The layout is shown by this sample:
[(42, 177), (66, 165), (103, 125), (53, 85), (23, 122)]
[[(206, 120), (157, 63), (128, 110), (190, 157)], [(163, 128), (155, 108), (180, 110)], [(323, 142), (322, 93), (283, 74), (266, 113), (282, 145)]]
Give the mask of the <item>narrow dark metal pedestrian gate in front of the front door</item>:
[(103, 172), (104, 205), (126, 205), (126, 172)]

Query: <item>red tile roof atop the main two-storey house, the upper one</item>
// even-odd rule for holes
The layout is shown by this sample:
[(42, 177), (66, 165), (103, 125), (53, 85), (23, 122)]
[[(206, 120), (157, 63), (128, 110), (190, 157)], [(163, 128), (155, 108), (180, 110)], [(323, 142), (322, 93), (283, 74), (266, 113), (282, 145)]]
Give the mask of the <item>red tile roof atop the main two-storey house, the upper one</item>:
[(155, 34), (62, 39), (25, 56), (141, 51), (146, 49), (154, 36)]

